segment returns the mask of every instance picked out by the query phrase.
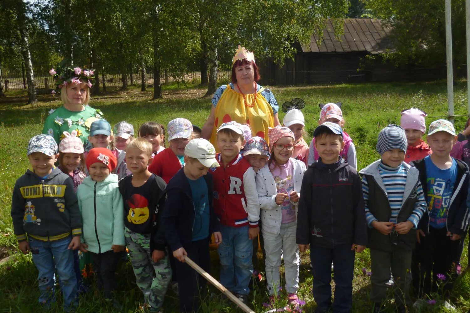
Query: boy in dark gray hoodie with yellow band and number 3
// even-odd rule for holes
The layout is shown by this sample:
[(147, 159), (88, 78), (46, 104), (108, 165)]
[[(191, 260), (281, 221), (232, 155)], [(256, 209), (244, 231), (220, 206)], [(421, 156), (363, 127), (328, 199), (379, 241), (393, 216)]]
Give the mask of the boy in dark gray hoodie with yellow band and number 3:
[(73, 253), (80, 245), (82, 220), (73, 181), (55, 168), (57, 144), (53, 137), (38, 135), (28, 144), (32, 171), (18, 178), (13, 189), (11, 218), (18, 248), (31, 252), (39, 271), (39, 304), (55, 302), (54, 274), (57, 270), (64, 310), (72, 309), (77, 297)]

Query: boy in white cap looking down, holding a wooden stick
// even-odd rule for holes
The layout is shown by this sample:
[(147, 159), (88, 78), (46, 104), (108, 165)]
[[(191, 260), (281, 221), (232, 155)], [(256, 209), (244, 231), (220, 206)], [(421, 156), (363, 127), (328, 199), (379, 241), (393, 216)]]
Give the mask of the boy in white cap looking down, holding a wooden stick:
[(184, 167), (170, 180), (166, 188), (166, 203), (162, 223), (165, 239), (178, 272), (178, 292), (181, 312), (197, 312), (201, 275), (185, 263), (185, 256), (193, 260), (206, 272), (210, 272), (209, 240), (214, 235), (215, 244), (220, 244), (222, 235), (219, 221), (212, 206), (212, 176), (209, 168), (219, 166), (215, 159), (214, 146), (209, 141), (197, 138), (184, 149)]

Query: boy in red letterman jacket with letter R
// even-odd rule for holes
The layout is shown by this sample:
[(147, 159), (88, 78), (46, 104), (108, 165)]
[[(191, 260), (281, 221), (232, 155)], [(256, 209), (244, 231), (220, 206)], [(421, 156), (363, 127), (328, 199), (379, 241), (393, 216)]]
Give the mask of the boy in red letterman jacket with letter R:
[(259, 201), (255, 171), (240, 154), (245, 145), (240, 124), (227, 122), (217, 130), (220, 167), (214, 177), (214, 211), (220, 221), (220, 282), (245, 304), (253, 274), (252, 239), (259, 233)]

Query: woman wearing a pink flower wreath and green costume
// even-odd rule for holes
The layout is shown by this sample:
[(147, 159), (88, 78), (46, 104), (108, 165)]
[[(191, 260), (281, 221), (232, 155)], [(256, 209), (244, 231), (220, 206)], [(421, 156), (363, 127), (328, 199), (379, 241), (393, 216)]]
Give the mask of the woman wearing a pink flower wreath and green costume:
[(77, 137), (85, 144), (90, 131), (90, 125), (101, 119), (102, 112), (88, 106), (90, 102), (91, 81), (94, 78), (93, 69), (71, 68), (67, 60), (49, 71), (55, 81), (53, 94), (60, 92), (63, 106), (51, 109), (44, 122), (43, 134), (54, 137), (57, 145), (63, 139), (63, 132), (77, 132)]

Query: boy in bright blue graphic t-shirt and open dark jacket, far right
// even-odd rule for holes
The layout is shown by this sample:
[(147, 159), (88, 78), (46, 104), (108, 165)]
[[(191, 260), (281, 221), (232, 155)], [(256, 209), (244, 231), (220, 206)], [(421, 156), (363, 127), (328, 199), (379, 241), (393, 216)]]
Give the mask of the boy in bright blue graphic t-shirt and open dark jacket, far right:
[[(412, 274), (419, 296), (438, 291), (437, 282), (443, 280), (440, 275), (445, 275), (447, 280), (449, 273), (455, 272), (452, 267), (460, 263), (462, 255), (462, 236), (469, 224), (466, 202), (469, 169), (464, 162), (449, 154), (456, 140), (451, 122), (432, 122), (427, 137), (432, 154), (412, 164), (420, 172), (428, 206), (416, 232), (418, 244), (412, 267), (418, 269)], [(451, 288), (451, 283), (444, 287), (445, 290)]]

